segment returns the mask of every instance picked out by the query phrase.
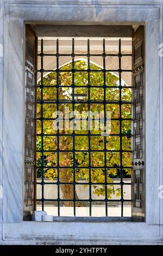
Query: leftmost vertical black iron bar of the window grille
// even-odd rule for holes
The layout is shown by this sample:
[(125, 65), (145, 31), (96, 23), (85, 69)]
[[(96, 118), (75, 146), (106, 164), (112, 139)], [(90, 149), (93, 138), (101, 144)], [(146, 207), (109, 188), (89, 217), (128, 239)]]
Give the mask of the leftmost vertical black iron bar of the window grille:
[(44, 210), (44, 166), (43, 166), (43, 39), (41, 39), (41, 186), (42, 211)]

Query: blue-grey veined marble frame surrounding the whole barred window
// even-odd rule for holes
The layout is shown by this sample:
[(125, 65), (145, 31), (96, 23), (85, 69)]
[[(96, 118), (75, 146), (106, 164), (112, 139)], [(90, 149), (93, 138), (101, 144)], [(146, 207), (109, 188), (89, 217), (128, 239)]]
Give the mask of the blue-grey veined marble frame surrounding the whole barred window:
[[(154, 1), (152, 1), (153, 3)], [(159, 198), (162, 179), (162, 4), (150, 1), (68, 2), (4, 1), (3, 9), (3, 82), (1, 80), (1, 166), (3, 201), (0, 202), (2, 239), (41, 239), (56, 241), (158, 240), (162, 237), (163, 204)], [(57, 10), (57, 11), (56, 11)], [(146, 221), (35, 223), (23, 220), (24, 179), (24, 42), (26, 22), (55, 24), (142, 24), (146, 39)], [(103, 227), (103, 228), (101, 228)], [(47, 231), (48, 230), (48, 231)], [(91, 234), (90, 231), (92, 230)], [(48, 235), (47, 235), (48, 233)]]

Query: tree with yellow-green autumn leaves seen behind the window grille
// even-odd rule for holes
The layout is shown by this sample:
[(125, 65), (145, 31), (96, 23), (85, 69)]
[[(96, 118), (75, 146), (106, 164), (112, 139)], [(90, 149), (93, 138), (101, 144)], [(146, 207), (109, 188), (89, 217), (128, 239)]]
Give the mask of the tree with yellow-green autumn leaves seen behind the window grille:
[[(68, 63), (61, 68), (65, 70), (64, 72), (59, 73), (59, 111), (63, 113), (65, 107), (69, 107), (69, 114), (72, 112), (72, 104), (61, 103), (62, 100), (72, 100), (72, 72), (66, 72), (66, 70), (72, 69), (72, 63)], [(75, 62), (75, 69), (77, 70), (87, 70), (87, 63), (84, 60), (78, 60)], [(91, 70), (100, 70), (97, 65), (90, 64)], [(120, 90), (118, 88), (118, 77), (111, 74), (110, 72), (106, 72), (105, 74), (105, 83), (106, 83), (106, 100), (111, 102), (118, 102), (120, 97)], [(41, 81), (38, 83), (37, 88), (37, 99), (41, 99)], [(48, 100), (57, 100), (57, 88), (55, 87), (57, 84), (57, 74), (56, 72), (51, 72), (50, 74), (43, 77), (43, 100), (47, 103), (43, 104), (43, 117), (44, 118), (57, 118), (57, 105), (54, 103), (48, 103)], [(87, 72), (75, 72), (74, 73), (74, 84), (77, 86), (74, 88), (75, 95), (75, 111), (78, 111), (81, 114), (83, 111), (88, 111), (88, 105), (85, 101), (88, 100), (88, 76)], [(102, 72), (90, 72), (90, 85), (93, 86), (90, 88), (90, 100), (95, 100), (97, 103), (91, 103), (90, 110), (92, 112), (102, 112), (104, 111), (104, 105), (101, 103), (104, 99), (104, 88), (102, 88), (104, 84), (103, 81), (103, 73)], [(50, 86), (50, 87), (49, 87)], [(100, 87), (101, 86), (101, 87)], [(109, 86), (115, 86), (116, 88), (109, 88)], [(77, 95), (77, 96), (76, 96)], [(79, 96), (78, 96), (79, 95)], [(80, 97), (82, 96), (82, 99)], [(82, 103), (78, 103), (77, 100), (82, 100)], [(127, 88), (124, 84), (124, 88), (122, 89), (122, 101), (131, 101), (131, 90)], [(120, 106), (117, 103), (109, 103), (106, 104), (106, 111), (110, 111), (112, 119), (120, 118)], [(122, 104), (121, 107), (121, 115), (122, 118), (130, 118), (131, 115), (131, 105), (130, 103)], [(41, 105), (37, 104), (37, 118), (41, 117)], [(87, 127), (88, 124), (86, 123)], [(59, 131), (60, 134), (70, 135), (72, 134), (72, 128), (69, 130), (62, 129)], [(60, 150), (69, 150), (70, 152), (60, 152), (59, 153), (59, 163), (62, 167), (60, 169), (60, 182), (71, 182), (73, 181), (73, 169), (66, 169), (64, 167), (69, 166), (72, 167), (75, 164), (75, 175), (76, 181), (80, 178), (84, 178), (89, 181), (89, 168), (82, 168), (85, 166), (89, 166), (89, 153), (86, 151), (89, 149), (88, 145), (88, 130), (80, 130), (75, 131), (75, 149), (83, 150), (83, 152), (75, 153), (75, 163), (73, 163), (73, 138), (72, 136), (60, 136), (59, 138), (59, 149)], [(41, 133), (41, 121), (37, 120), (37, 133)], [(49, 178), (53, 180), (57, 178), (58, 172), (55, 169), (57, 165), (57, 153), (51, 150), (57, 150), (57, 137), (56, 136), (46, 136), (46, 134), (54, 134), (54, 120), (43, 120), (43, 133), (45, 136), (43, 137), (43, 165), (44, 176), (45, 178)], [(96, 152), (91, 152), (91, 181), (93, 183), (104, 183), (105, 182), (105, 173), (104, 168), (93, 168), (93, 167), (102, 167), (104, 166), (104, 136), (93, 136), (93, 134), (99, 133), (96, 131), (95, 123), (93, 123), (91, 130), (91, 150), (101, 150)], [(107, 182), (113, 183), (112, 178), (116, 177), (120, 170), (118, 167), (120, 166), (120, 121), (119, 120), (111, 120), (111, 134), (117, 134), (117, 136), (108, 136), (106, 137), (106, 149), (111, 150), (106, 153), (106, 164), (108, 166), (106, 170)], [(129, 120), (122, 121), (122, 149), (130, 150), (131, 149), (131, 126)], [(85, 136), (78, 136), (80, 134), (84, 134)], [(37, 150), (41, 150), (41, 138), (37, 136)], [(84, 152), (85, 150), (85, 152)], [(129, 152), (123, 152), (123, 166), (130, 167), (131, 156)], [(41, 176), (41, 152), (37, 152), (37, 176)], [(109, 168), (113, 167), (113, 168)], [(47, 168), (46, 168), (47, 167)], [(53, 167), (53, 168), (51, 168)], [(80, 168), (79, 168), (80, 167)], [(130, 175), (130, 169), (124, 169), (123, 174)], [(73, 199), (73, 185), (60, 185), (62, 196), (64, 199)], [(97, 196), (105, 196), (105, 185), (93, 185), (93, 193)], [(108, 198), (110, 199), (112, 194), (116, 194), (116, 196), (120, 196), (121, 189), (117, 188), (115, 190), (114, 185), (107, 186)], [(76, 194), (76, 199), (78, 199)], [(72, 206), (72, 202), (65, 202), (65, 206)], [(78, 202), (77, 206), (81, 206), (81, 203)]]

